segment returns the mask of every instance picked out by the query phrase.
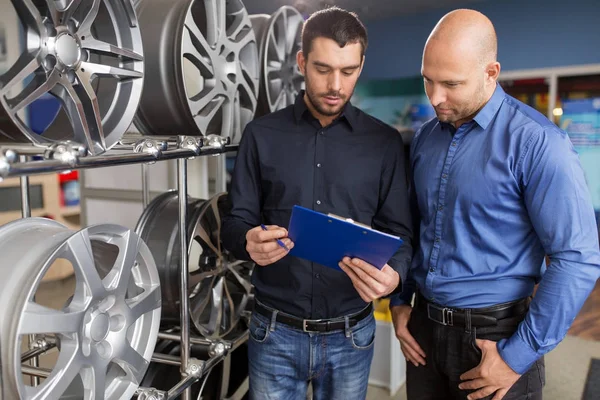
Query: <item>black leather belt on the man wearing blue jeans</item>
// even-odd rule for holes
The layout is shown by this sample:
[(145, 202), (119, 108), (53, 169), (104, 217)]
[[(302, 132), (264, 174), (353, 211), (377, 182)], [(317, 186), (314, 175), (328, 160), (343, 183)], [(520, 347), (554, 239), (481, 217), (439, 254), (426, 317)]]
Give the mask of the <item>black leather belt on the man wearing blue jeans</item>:
[[(259, 302), (255, 302), (254, 311), (267, 318), (271, 318), (271, 316), (273, 315), (273, 311), (275, 310), (268, 308), (260, 304)], [(360, 321), (371, 315), (372, 312), (373, 307), (371, 304), (369, 304), (367, 307), (357, 312), (356, 314), (349, 315), (348, 327), (351, 328), (355, 326)], [(278, 311), (275, 320), (277, 322), (281, 322), (282, 324), (286, 324), (291, 327), (300, 329), (304, 332), (331, 332), (335, 330), (346, 329), (346, 321), (344, 317), (332, 319), (302, 319)]]

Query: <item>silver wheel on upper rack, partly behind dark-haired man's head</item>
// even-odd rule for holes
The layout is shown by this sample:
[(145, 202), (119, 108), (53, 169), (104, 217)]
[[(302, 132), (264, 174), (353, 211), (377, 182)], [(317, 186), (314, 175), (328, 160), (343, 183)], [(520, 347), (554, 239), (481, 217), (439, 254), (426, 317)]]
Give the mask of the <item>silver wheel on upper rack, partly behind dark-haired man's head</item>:
[(270, 17), (251, 16), (260, 40), (260, 94), (257, 115), (264, 115), (294, 104), (304, 89), (296, 54), (302, 48), (304, 18), (294, 7), (283, 6)]

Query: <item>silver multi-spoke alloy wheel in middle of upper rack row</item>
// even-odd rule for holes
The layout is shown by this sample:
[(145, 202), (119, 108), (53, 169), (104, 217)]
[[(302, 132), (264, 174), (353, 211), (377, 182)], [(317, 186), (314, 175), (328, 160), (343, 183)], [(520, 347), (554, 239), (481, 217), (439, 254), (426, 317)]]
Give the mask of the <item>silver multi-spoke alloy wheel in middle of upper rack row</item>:
[(254, 117), (260, 68), (242, 1), (138, 0), (136, 9), (146, 44), (139, 131), (238, 143)]

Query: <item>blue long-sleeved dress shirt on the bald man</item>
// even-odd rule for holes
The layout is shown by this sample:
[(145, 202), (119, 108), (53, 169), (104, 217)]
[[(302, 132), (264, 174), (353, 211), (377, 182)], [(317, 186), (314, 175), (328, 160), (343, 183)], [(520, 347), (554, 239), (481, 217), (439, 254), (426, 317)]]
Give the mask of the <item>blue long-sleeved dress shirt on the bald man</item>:
[[(569, 137), (498, 85), (458, 129), (437, 118), (411, 144), (416, 248), (412, 298), (479, 308), (530, 296), (517, 332), (498, 342), (526, 372), (565, 336), (600, 276), (594, 209)], [(541, 279), (544, 255), (551, 264)]]

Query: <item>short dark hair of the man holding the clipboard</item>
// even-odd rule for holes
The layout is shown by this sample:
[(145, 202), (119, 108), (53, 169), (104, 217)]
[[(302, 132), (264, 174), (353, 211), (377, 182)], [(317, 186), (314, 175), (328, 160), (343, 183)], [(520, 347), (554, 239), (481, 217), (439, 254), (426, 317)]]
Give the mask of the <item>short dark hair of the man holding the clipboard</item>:
[(313, 40), (319, 37), (334, 40), (340, 47), (348, 43), (360, 43), (361, 56), (367, 50), (367, 29), (358, 16), (341, 9), (330, 7), (313, 13), (302, 27), (302, 52), (308, 57)]

